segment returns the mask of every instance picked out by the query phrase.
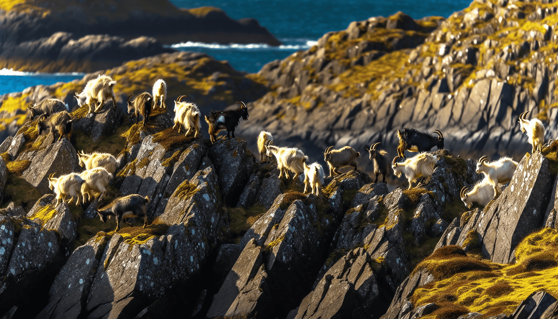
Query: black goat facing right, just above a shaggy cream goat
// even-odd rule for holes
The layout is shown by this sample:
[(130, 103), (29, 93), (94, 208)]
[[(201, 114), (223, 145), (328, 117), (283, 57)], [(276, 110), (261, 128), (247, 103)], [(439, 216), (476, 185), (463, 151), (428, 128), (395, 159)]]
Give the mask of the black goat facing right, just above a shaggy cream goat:
[(444, 135), (439, 130), (434, 130), (434, 132), (438, 137), (432, 137), (426, 132), (420, 132), (410, 127), (403, 128), (403, 131), (397, 130), (397, 138), (399, 139), (397, 155), (401, 158), (406, 158), (406, 150), (410, 152), (428, 152), (434, 146), (437, 146), (439, 150), (443, 150)]

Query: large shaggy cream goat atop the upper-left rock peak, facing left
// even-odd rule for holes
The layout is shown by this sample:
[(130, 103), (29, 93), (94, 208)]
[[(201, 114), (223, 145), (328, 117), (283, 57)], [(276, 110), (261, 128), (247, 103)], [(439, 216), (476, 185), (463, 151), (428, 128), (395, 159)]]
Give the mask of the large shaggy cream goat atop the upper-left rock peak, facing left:
[(106, 74), (100, 75), (95, 79), (90, 79), (87, 84), (85, 84), (85, 88), (83, 92), (79, 93), (75, 92), (75, 98), (78, 99), (79, 107), (82, 107), (84, 104), (89, 106), (88, 113), (92, 112), (92, 104), (95, 105), (95, 113), (99, 112), (100, 109), (103, 107), (103, 103), (108, 101), (109, 98), (112, 98), (113, 107), (116, 108), (116, 97), (114, 96), (114, 84), (116, 81), (113, 81), (112, 78), (108, 77)]

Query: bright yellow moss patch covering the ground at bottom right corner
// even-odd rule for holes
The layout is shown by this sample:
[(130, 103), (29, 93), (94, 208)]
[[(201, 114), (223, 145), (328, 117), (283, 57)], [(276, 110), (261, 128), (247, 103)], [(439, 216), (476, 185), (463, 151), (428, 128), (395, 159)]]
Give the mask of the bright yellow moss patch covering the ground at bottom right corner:
[(558, 231), (545, 228), (527, 236), (516, 248), (516, 260), (495, 264), (458, 246), (442, 247), (413, 270), (427, 268), (436, 281), (417, 288), (411, 302), (415, 307), (436, 303), (440, 309), (425, 317), (433, 319), (455, 309), (509, 315), (535, 291), (558, 297)]

